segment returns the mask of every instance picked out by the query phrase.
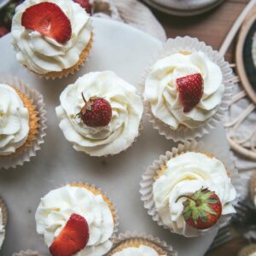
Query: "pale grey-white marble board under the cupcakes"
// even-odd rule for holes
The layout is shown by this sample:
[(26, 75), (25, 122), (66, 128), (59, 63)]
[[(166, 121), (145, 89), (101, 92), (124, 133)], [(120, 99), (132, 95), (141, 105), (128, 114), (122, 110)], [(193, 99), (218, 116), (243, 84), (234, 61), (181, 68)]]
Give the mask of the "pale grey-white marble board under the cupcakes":
[[(172, 244), (179, 256), (202, 256), (216, 231), (193, 239), (174, 235), (155, 224), (140, 201), (138, 189), (143, 172), (160, 154), (174, 146), (172, 141), (167, 141), (146, 123), (141, 137), (129, 150), (109, 158), (93, 158), (76, 152), (58, 127), (55, 106), (67, 84), (83, 73), (109, 69), (137, 85), (150, 56), (161, 48), (157, 39), (113, 20), (95, 18), (94, 26), (95, 44), (85, 67), (67, 79), (54, 81), (28, 73), (15, 61), (10, 36), (0, 39), (0, 72), (13, 73), (41, 91), (48, 111), (47, 136), (42, 150), (29, 164), (0, 174), (0, 195), (9, 207), (7, 235), (0, 255), (11, 255), (26, 248), (47, 254), (48, 249), (35, 229), (34, 213), (40, 197), (65, 183), (81, 181), (96, 184), (112, 198), (119, 212), (119, 231), (146, 232)], [(229, 157), (222, 125), (203, 140), (212, 147), (221, 143)]]

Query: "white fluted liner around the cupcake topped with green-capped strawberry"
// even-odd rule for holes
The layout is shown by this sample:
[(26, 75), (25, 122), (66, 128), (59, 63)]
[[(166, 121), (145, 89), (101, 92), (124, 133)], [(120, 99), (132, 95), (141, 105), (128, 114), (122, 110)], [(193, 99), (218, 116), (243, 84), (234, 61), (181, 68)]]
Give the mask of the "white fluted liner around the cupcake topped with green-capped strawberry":
[[(197, 143), (195, 140), (192, 142), (185, 142), (183, 144), (178, 144), (177, 148), (172, 148), (172, 151), (167, 151), (165, 155), (160, 155), (159, 160), (154, 160), (153, 165), (149, 166), (147, 171), (143, 174), (143, 180), (140, 183), (140, 194), (141, 194), (141, 200), (143, 201), (143, 205), (145, 209), (148, 211), (148, 215), (150, 215), (154, 221), (157, 222), (160, 226), (163, 226), (167, 230), (171, 230), (169, 227), (167, 227), (163, 221), (160, 218), (160, 215), (158, 214), (155, 204), (154, 204), (154, 195), (153, 195), (153, 185), (154, 185), (154, 177), (156, 176), (157, 172), (160, 170), (160, 166), (166, 165), (166, 162), (174, 157), (176, 157), (179, 154), (189, 152), (189, 151), (201, 151), (213, 154), (221, 160), (224, 163), (224, 166), (228, 166), (228, 171), (230, 172), (231, 182), (236, 188), (236, 201), (234, 201), (233, 205), (235, 206), (238, 202), (238, 198), (240, 196), (241, 191), (241, 181), (240, 176), (233, 165), (232, 161), (230, 160), (230, 155), (227, 154), (224, 149), (219, 146), (215, 148), (211, 148), (210, 145), (207, 145), (205, 143)], [(222, 216), (222, 218), (219, 219), (218, 224), (212, 227), (212, 229), (216, 229), (219, 227), (224, 226), (224, 224), (227, 224), (231, 219), (231, 216)], [(194, 236), (201, 236), (205, 235), (208, 232), (211, 232), (210, 230), (195, 230), (189, 227), (189, 225), (186, 225), (185, 230), (183, 230), (183, 236), (186, 237), (194, 237)], [(173, 232), (173, 230), (171, 230)]]

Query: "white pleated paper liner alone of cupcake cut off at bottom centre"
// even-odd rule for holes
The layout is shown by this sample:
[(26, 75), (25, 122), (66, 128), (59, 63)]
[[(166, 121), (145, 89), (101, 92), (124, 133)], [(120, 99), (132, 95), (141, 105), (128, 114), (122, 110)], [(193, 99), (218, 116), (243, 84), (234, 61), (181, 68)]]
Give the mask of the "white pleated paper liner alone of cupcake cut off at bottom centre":
[[(168, 245), (166, 241), (160, 241), (159, 238), (154, 237), (152, 235), (146, 235), (146, 234), (137, 234), (136, 232), (131, 232), (127, 231), (125, 233), (120, 233), (119, 236), (115, 236), (113, 238), (113, 247), (112, 250), (115, 249), (116, 247), (119, 247), (119, 245), (122, 242), (125, 242), (127, 240), (135, 239), (135, 238), (140, 238), (143, 240), (147, 240), (149, 242), (154, 243), (157, 247), (162, 248), (166, 253), (167, 256), (177, 256), (177, 252), (173, 250), (172, 246)], [(111, 253), (111, 251), (110, 251)]]

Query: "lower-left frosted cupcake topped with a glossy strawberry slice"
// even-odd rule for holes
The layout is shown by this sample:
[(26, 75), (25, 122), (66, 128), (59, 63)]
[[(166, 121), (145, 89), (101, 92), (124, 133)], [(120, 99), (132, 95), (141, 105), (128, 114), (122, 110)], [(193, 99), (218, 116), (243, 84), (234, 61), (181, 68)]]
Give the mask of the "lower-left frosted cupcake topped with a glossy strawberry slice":
[(71, 183), (49, 191), (36, 212), (37, 232), (55, 255), (101, 256), (117, 225), (113, 203), (93, 185)]

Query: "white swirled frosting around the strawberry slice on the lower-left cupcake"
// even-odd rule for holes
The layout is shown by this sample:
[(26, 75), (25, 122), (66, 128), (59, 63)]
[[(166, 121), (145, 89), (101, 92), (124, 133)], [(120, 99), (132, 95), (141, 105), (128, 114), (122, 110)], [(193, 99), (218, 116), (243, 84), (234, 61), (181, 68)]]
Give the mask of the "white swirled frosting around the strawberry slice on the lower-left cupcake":
[(38, 234), (44, 235), (48, 247), (58, 236), (73, 213), (83, 216), (88, 225), (90, 239), (75, 256), (101, 256), (112, 247), (113, 216), (102, 195), (90, 190), (65, 186), (51, 190), (38, 206), (36, 223)]

